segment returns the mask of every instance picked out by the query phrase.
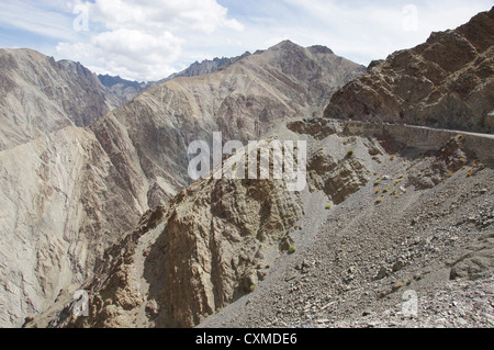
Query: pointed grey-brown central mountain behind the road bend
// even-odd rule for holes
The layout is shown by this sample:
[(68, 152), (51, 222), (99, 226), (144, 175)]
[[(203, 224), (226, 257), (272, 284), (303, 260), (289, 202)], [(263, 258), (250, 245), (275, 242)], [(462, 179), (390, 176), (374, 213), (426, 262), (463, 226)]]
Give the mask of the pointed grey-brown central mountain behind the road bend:
[[(134, 193), (147, 195), (151, 207), (190, 183), (187, 147), (193, 140), (212, 145), (213, 132), (222, 132), (224, 142), (258, 139), (285, 118), (321, 112), (337, 87), (363, 69), (327, 48), (283, 42), (222, 71), (154, 87), (91, 129), (122, 167), (136, 163), (122, 161), (128, 151), (138, 159), (135, 171), (151, 185)], [(132, 144), (114, 142), (125, 138)]]

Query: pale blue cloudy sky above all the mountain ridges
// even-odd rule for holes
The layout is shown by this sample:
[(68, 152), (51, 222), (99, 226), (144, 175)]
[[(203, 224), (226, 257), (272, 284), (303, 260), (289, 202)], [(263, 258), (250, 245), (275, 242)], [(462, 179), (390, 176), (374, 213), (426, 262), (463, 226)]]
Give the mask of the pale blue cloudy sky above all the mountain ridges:
[(0, 47), (33, 48), (138, 81), (283, 39), (324, 45), (368, 66), (493, 5), (493, 0), (1, 0)]

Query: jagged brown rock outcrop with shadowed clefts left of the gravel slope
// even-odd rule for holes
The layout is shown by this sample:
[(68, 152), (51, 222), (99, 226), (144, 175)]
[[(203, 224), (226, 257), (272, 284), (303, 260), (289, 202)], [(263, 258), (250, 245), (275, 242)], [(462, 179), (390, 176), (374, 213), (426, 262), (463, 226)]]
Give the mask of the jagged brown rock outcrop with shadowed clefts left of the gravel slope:
[[(203, 180), (109, 249), (91, 291), (89, 318), (67, 294), (37, 327), (192, 327), (249, 293), (256, 264), (293, 230), (302, 213), (282, 183)], [(266, 263), (265, 263), (266, 264)], [(67, 303), (68, 302), (68, 303)], [(68, 315), (68, 318), (65, 317)], [(48, 321), (48, 325), (43, 325)]]

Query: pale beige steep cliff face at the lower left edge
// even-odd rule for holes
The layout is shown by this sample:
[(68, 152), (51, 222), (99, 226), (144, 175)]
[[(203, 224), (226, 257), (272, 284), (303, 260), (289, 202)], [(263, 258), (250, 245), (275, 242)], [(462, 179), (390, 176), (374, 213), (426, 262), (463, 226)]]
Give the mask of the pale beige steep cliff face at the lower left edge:
[[(96, 136), (68, 127), (0, 153), (0, 327), (53, 303), (147, 210)], [(142, 206), (144, 205), (144, 206)]]

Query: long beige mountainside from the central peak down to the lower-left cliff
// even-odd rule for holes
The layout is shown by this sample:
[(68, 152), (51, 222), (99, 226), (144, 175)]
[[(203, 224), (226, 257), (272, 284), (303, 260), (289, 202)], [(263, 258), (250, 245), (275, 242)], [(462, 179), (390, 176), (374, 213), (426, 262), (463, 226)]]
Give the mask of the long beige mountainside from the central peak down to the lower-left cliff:
[(279, 122), (321, 112), (363, 70), (327, 48), (284, 42), (224, 70), (156, 86), (89, 127), (0, 153), (0, 326), (19, 325), (90, 278), (143, 213), (188, 185), (192, 140), (211, 144), (213, 132), (257, 139)]

